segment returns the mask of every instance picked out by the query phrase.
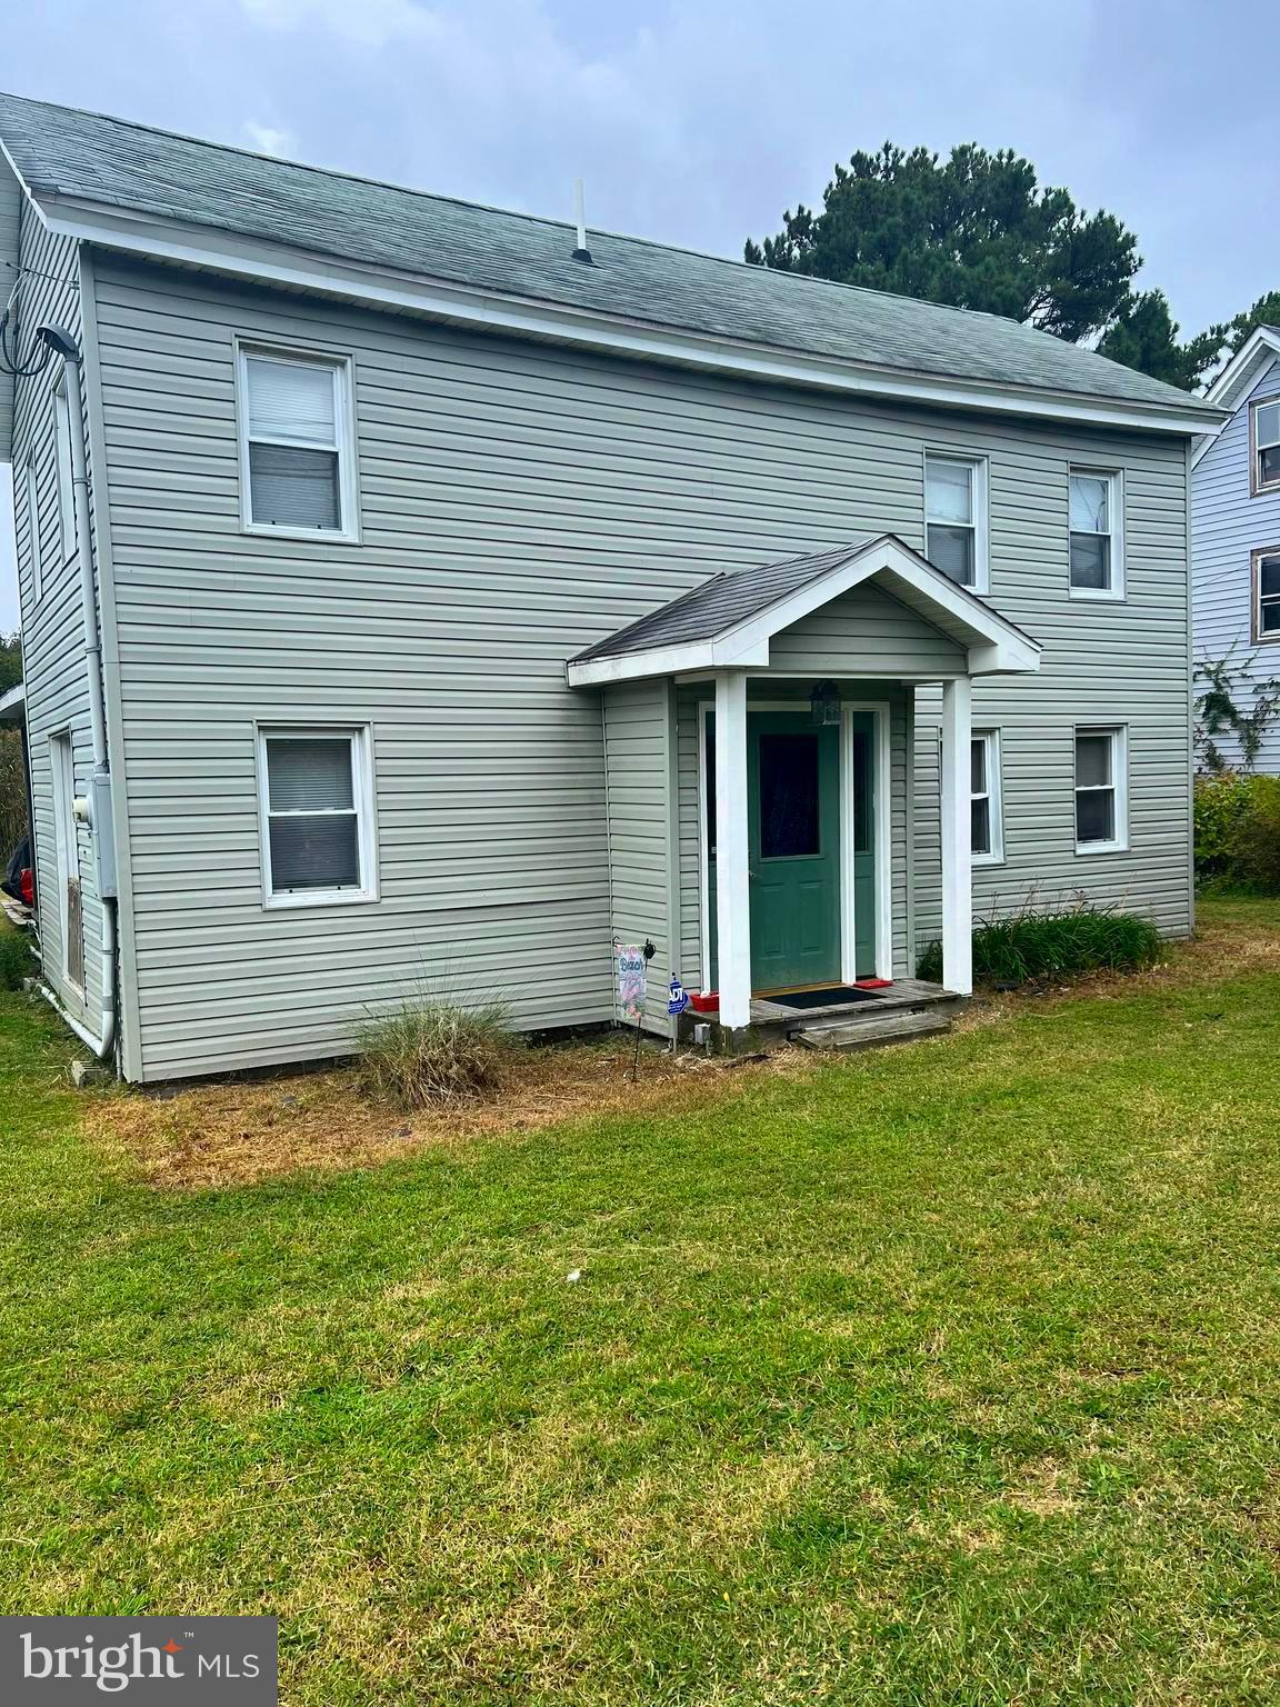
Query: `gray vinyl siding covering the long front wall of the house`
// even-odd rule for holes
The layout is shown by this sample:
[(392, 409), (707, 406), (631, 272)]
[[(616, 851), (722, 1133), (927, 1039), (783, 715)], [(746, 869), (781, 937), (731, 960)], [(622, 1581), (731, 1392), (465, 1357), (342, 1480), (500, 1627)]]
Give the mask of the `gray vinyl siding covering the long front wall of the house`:
[[(922, 548), (925, 444), (988, 456), (992, 597), (1053, 654), (1010, 702), (1019, 860), (1043, 823), (1070, 867), (1051, 760), (1077, 717), (1120, 707), (1145, 792), (1123, 883), (1103, 860), (1091, 881), (1184, 927), (1181, 444), (754, 387), (106, 258), (96, 306), (143, 1077), (335, 1053), (370, 1005), (451, 970), (526, 1026), (608, 1019), (614, 930), (650, 905), (662, 929), (659, 830), (631, 848), (623, 823), (609, 847), (601, 695), (567, 690), (565, 659), (717, 570), (886, 531)], [(360, 545), (241, 533), (237, 335), (353, 360)], [(1072, 457), (1125, 468), (1137, 604), (1067, 599)], [(254, 719), (370, 725), (377, 903), (263, 910)], [(678, 736), (688, 976), (684, 717)], [(1012, 838), (1012, 799), (1005, 819)]]

